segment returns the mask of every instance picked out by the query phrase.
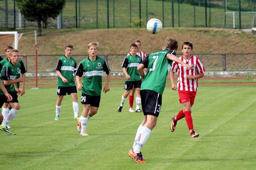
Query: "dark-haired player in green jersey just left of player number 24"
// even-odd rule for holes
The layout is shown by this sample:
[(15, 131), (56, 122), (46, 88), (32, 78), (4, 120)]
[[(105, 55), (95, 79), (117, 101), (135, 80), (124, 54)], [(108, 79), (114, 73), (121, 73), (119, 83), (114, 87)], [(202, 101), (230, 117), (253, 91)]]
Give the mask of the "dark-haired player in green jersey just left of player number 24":
[(58, 99), (56, 102), (55, 120), (60, 120), (61, 102), (66, 94), (71, 94), (72, 96), (74, 120), (76, 120), (78, 117), (79, 105), (77, 99), (76, 83), (73, 76), (73, 73), (76, 71), (76, 60), (71, 57), (72, 51), (73, 45), (66, 44), (65, 55), (58, 59), (56, 66), (56, 73), (58, 75)]

